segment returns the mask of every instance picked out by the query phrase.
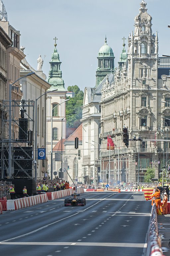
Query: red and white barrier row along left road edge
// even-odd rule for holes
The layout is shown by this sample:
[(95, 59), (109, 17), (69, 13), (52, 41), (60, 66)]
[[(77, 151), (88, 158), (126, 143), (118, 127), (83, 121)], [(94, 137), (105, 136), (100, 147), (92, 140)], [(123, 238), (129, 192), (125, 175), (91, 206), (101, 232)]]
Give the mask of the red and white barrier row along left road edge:
[[(0, 200), (0, 214), (2, 214), (2, 211), (19, 210), (22, 208), (47, 202), (48, 200), (69, 196), (73, 193), (74, 193), (73, 189), (70, 188), (70, 189), (65, 189), (65, 190), (60, 190), (55, 192), (42, 193), (36, 196), (23, 197), (23, 198), (14, 199), (14, 200)], [(78, 188), (77, 193), (78, 194), (84, 193), (84, 189)]]

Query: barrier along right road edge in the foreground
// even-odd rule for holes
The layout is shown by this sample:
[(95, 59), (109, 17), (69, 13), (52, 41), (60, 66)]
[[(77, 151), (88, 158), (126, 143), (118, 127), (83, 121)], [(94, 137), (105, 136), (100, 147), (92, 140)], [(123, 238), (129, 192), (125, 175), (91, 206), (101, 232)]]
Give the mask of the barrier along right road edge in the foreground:
[(146, 256), (164, 256), (158, 233), (156, 204), (153, 203), (147, 236)]

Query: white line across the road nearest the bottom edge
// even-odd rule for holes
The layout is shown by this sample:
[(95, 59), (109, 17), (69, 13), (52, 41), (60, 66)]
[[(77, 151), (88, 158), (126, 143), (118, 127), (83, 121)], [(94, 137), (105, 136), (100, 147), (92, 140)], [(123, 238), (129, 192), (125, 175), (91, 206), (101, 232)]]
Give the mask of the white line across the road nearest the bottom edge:
[[(67, 245), (70, 246), (75, 242), (0, 242), (0, 245)], [(80, 242), (75, 243), (75, 246), (105, 246), (105, 247), (135, 247), (135, 248), (146, 248), (147, 243), (89, 243), (89, 242)]]

